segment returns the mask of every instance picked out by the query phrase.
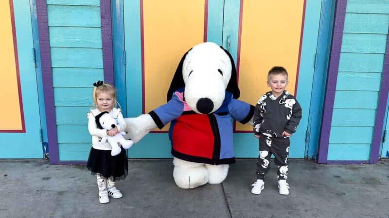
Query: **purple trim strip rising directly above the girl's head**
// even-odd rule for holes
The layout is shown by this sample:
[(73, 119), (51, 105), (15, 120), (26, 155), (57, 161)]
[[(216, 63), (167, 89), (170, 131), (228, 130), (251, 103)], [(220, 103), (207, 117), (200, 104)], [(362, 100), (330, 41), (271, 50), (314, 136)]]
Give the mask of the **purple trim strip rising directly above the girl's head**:
[(114, 84), (110, 0), (100, 0), (100, 16), (101, 40), (103, 47), (104, 81)]

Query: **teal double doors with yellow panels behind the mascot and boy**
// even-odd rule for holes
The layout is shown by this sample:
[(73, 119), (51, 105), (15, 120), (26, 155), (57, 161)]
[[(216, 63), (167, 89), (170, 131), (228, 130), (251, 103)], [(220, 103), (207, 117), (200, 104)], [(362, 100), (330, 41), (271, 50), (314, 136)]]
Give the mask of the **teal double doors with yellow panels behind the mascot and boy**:
[[(296, 17), (293, 20), (296, 30), (290, 31), (273, 30), (277, 23), (269, 22), (267, 17), (256, 17), (259, 8), (270, 10), (283, 4), (244, 0), (195, 2), (188, 4), (186, 1), (177, 3), (166, 0), (159, 3), (154, 1), (151, 5), (150, 1), (124, 1), (126, 55), (123, 78), (127, 117), (136, 117), (164, 104), (170, 81), (182, 55), (198, 43), (212, 41), (230, 51), (239, 70), (240, 99), (250, 104), (255, 105), (259, 96), (265, 92), (265, 74), (270, 66), (287, 66), (290, 74), (289, 91), (297, 95), (303, 109), (299, 129), (291, 138), (290, 157), (304, 157), (321, 0), (307, 0), (305, 5), (305, 1), (301, 0), (299, 4), (283, 6), (286, 15), (274, 22), (280, 23), (278, 28), (288, 27), (291, 26), (288, 23), (290, 17)], [(261, 26), (262, 29), (259, 28)], [(269, 29), (273, 35), (267, 33)], [(270, 54), (271, 51), (263, 47), (267, 44), (267, 47), (271, 47), (270, 44), (278, 46), (279, 52), (273, 52), (275, 56)], [(293, 47), (281, 49), (283, 45), (289, 44), (293, 44)], [(250, 47), (258, 49), (253, 51)], [(120, 52), (117, 53), (119, 56)], [(255, 60), (258, 55), (263, 58)], [(254, 89), (258, 86), (261, 90)], [(128, 156), (171, 157), (166, 131), (167, 128), (148, 134), (129, 150)], [(258, 140), (253, 137), (251, 127), (236, 125), (234, 147), (236, 157), (258, 156)]]

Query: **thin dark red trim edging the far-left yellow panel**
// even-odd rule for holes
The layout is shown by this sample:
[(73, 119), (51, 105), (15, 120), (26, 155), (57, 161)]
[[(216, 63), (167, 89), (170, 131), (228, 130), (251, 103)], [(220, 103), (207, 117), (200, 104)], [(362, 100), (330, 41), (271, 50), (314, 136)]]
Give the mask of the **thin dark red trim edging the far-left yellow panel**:
[(19, 97), (21, 129), (18, 129), (18, 130), (0, 130), (0, 132), (25, 133), (26, 132), (26, 125), (24, 123), (23, 99), (22, 99), (22, 96), (21, 96), (21, 85), (20, 85), (20, 74), (19, 74), (19, 60), (18, 60), (18, 43), (17, 43), (17, 39), (16, 39), (15, 15), (14, 15), (14, 2), (13, 2), (13, 0), (9, 0), (9, 9), (10, 9), (10, 12), (11, 12), (12, 37), (14, 39), (14, 54), (15, 54), (15, 64), (16, 64), (16, 78), (17, 78), (17, 82), (18, 82), (18, 97)]

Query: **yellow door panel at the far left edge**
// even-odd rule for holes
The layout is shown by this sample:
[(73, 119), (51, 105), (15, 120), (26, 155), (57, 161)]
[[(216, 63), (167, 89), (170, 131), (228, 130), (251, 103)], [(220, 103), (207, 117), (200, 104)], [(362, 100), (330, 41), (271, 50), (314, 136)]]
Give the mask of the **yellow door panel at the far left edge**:
[(21, 130), (20, 102), (8, 0), (0, 1), (0, 130)]

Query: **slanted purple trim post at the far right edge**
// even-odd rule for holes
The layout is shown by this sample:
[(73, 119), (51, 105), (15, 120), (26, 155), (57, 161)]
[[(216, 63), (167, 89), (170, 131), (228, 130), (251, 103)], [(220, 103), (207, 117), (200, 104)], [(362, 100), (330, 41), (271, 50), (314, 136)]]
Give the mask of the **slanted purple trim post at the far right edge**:
[(377, 163), (383, 134), (385, 110), (389, 92), (389, 34), (386, 40), (384, 67), (381, 76), (381, 89), (378, 98), (377, 115), (375, 116), (374, 135), (371, 143), (369, 163)]

